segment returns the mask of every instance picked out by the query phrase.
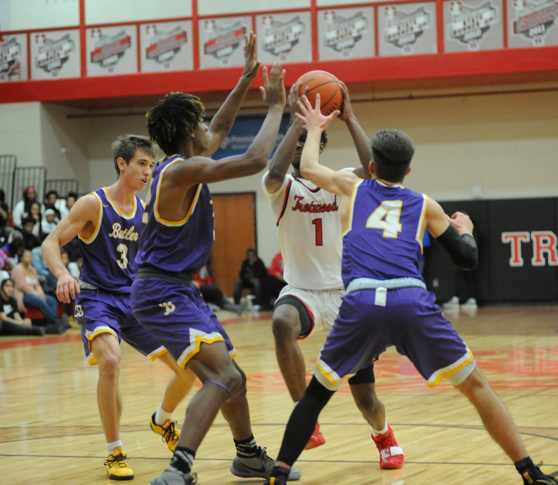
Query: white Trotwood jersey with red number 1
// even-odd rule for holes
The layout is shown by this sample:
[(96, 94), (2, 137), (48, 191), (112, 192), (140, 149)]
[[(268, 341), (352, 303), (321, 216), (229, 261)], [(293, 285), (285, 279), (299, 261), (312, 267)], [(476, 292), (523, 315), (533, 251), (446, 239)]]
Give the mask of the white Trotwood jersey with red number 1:
[(281, 189), (263, 193), (270, 199), (279, 230), (285, 281), (305, 290), (343, 288), (339, 196), (295, 174), (285, 175)]

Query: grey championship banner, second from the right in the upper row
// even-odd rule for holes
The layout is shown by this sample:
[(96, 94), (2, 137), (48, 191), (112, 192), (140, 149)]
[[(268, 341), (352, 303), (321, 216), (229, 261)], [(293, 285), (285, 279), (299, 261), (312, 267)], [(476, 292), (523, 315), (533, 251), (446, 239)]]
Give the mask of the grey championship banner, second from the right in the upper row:
[(501, 0), (443, 2), (446, 52), (502, 49)]

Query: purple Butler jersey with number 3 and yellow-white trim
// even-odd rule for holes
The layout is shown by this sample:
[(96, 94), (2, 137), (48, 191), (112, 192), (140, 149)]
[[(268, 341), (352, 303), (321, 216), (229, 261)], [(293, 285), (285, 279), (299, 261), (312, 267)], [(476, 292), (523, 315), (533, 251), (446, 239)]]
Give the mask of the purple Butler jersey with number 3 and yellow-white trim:
[(83, 257), (80, 286), (129, 295), (137, 273), (143, 201), (136, 195), (132, 212), (123, 214), (106, 188), (92, 194), (99, 199), (99, 213), (92, 236), (87, 239), (79, 236)]

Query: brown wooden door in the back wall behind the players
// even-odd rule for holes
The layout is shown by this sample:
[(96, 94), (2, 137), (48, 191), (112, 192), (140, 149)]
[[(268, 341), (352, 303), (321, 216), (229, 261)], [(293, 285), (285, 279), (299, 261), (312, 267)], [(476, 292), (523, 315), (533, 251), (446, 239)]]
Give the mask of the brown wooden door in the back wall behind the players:
[(215, 242), (211, 252), (213, 282), (232, 296), (234, 280), (256, 244), (256, 193), (213, 194)]

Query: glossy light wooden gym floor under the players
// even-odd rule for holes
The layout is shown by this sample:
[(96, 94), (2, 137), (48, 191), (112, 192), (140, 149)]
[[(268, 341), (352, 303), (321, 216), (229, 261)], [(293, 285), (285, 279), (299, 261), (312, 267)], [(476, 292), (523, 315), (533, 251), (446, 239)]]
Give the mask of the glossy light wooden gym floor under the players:
[[(447, 312), (446, 312), (447, 313)], [(275, 457), (292, 403), (277, 367), (271, 314), (219, 314), (248, 376), (252, 428)], [(448, 314), (480, 367), (506, 402), (531, 457), (558, 475), (558, 306), (481, 308)], [(316, 334), (302, 342), (309, 376), (321, 347)], [(148, 484), (171, 453), (149, 427), (170, 371), (122, 344), (121, 438), (136, 473)], [(472, 405), (446, 382), (434, 389), (393, 349), (376, 365), (378, 395), (405, 450), (401, 470), (381, 470), (370, 430), (348, 387), (320, 416), (326, 444), (302, 453), (300, 484), (521, 484), (521, 478), (482, 427)], [(79, 330), (48, 337), (0, 339), (0, 484), (113, 485), (105, 473), (104, 435), (97, 410), (97, 369), (83, 357)], [(194, 388), (195, 392), (196, 388)], [(175, 412), (184, 420), (187, 397)], [(229, 472), (232, 437), (222, 416), (198, 450), (200, 485), (262, 483)]]

